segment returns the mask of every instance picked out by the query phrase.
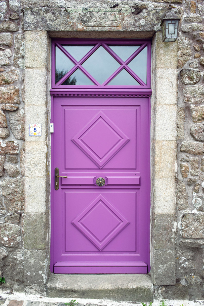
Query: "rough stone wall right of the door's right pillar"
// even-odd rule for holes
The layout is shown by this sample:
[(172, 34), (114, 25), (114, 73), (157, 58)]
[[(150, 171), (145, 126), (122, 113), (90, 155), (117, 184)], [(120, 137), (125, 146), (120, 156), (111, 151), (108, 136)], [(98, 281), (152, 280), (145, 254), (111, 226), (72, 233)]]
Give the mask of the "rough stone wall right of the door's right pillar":
[(186, 1), (182, 6), (178, 39), (176, 285), (155, 286), (155, 295), (201, 300), (204, 298), (204, 6), (200, 0)]

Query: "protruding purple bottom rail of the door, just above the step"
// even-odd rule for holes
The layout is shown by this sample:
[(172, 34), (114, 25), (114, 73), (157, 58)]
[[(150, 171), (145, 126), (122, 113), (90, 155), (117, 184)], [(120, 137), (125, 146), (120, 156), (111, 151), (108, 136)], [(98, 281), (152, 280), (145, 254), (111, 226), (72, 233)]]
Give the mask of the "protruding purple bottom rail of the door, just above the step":
[(60, 274), (147, 274), (145, 262), (57, 262), (54, 273)]

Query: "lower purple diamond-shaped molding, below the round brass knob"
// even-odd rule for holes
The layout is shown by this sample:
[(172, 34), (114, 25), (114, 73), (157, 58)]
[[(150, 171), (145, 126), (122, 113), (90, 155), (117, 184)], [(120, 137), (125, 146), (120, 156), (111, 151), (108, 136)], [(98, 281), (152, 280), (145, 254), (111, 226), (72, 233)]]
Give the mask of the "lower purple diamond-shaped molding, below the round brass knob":
[(102, 194), (99, 194), (73, 221), (98, 249), (102, 251), (129, 221)]

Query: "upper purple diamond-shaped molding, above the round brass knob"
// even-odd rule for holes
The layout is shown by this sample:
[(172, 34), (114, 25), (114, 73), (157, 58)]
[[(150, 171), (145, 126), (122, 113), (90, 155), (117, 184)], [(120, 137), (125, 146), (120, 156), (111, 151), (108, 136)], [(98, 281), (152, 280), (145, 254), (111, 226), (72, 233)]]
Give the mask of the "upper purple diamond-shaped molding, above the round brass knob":
[(100, 110), (72, 141), (102, 168), (129, 138)]

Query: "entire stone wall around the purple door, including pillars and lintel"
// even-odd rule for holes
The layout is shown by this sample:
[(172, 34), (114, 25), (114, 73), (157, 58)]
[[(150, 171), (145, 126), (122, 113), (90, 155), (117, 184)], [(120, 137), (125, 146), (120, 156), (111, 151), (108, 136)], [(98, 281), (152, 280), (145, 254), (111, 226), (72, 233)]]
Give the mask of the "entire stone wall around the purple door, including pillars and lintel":
[[(154, 35), (168, 4), (163, 0), (0, 2), (0, 276), (6, 278), (4, 288), (22, 291), (25, 284), (43, 294), (47, 280), (49, 36), (154, 35), (151, 273), (155, 296), (204, 298), (204, 6), (203, 0), (172, 2), (181, 18), (176, 43), (162, 43), (161, 32)], [(40, 140), (28, 136), (28, 124), (34, 120), (43, 124)]]

